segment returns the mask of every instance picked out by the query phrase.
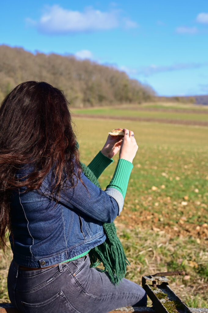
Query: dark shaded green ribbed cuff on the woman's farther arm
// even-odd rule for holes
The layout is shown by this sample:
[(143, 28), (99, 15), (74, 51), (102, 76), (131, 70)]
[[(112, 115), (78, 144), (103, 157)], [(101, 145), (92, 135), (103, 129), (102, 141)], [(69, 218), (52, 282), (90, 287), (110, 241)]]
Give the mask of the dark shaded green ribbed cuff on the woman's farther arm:
[(94, 173), (95, 177), (98, 177), (102, 174), (104, 169), (114, 162), (113, 159), (109, 159), (107, 156), (104, 156), (101, 151), (94, 157), (94, 159), (89, 163), (87, 167)]

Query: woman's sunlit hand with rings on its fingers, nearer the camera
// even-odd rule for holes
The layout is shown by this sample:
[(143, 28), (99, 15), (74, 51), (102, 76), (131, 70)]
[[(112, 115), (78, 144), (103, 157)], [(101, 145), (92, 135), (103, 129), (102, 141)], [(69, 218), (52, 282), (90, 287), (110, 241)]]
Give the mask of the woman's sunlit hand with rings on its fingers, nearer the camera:
[(121, 143), (119, 158), (132, 163), (134, 156), (136, 155), (136, 151), (138, 150), (138, 146), (134, 138), (134, 132), (129, 131), (126, 128), (124, 128), (123, 131), (125, 135)]

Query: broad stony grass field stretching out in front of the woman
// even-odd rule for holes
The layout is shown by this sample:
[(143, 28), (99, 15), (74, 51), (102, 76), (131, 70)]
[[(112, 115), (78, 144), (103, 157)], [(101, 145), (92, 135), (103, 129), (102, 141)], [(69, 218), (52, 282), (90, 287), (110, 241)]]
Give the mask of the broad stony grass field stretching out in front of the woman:
[[(134, 131), (139, 150), (124, 209), (115, 220), (131, 262), (126, 278), (141, 284), (143, 274), (183, 269), (186, 275), (171, 278), (171, 288), (188, 306), (208, 307), (208, 128), (86, 117), (74, 118), (74, 123), (80, 159), (86, 164), (109, 131)], [(117, 159), (99, 178), (103, 189)], [(0, 252), (0, 297), (5, 302), (12, 257), (10, 251), (7, 254), (6, 258)]]

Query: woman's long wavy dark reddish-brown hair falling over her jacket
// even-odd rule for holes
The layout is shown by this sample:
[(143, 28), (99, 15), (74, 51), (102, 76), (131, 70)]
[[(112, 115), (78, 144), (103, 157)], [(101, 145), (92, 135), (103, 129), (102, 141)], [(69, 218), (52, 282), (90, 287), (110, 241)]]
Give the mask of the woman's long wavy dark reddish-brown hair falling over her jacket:
[[(15, 173), (24, 164), (31, 164), (33, 172), (18, 181)], [(22, 186), (38, 189), (51, 168), (53, 191), (58, 193), (65, 178), (72, 186), (80, 179), (79, 151), (68, 102), (61, 90), (48, 83), (24, 82), (0, 107), (0, 249), (5, 250), (11, 231), (12, 190)]]

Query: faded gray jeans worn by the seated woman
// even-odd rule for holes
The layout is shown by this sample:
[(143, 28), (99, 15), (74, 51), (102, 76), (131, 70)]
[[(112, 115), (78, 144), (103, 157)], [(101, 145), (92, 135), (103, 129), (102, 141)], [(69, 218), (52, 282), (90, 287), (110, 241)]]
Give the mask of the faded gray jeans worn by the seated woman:
[(119, 307), (146, 306), (145, 290), (130, 280), (113, 285), (106, 272), (90, 268), (89, 256), (48, 269), (8, 273), (12, 304), (25, 313), (107, 313)]

